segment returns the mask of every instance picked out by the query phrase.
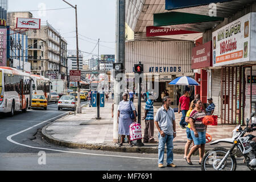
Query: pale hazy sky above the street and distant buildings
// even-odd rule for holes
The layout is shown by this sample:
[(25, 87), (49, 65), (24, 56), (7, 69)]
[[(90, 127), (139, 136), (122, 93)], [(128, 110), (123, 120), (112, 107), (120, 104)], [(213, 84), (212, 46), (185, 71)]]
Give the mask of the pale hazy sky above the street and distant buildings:
[[(66, 0), (77, 5), (79, 49), (98, 55), (115, 54), (115, 0)], [(62, 0), (9, 0), (8, 11), (30, 11), (33, 18), (50, 23), (76, 49), (75, 9)], [(55, 9), (55, 10), (52, 10)], [(45, 11), (44, 11), (45, 10)], [(22, 17), (20, 17), (22, 18)], [(84, 53), (85, 59), (93, 55)], [(96, 56), (94, 56), (96, 57)]]

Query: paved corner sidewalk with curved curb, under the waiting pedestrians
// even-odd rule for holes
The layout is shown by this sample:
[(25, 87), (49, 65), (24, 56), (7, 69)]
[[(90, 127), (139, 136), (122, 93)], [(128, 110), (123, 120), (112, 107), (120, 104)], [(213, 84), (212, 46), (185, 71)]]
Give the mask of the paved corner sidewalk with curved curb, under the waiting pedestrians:
[[(158, 153), (158, 143), (144, 143), (144, 146), (130, 147), (124, 143), (122, 147), (113, 143), (113, 118), (112, 100), (105, 102), (105, 107), (100, 108), (100, 120), (97, 120), (97, 107), (82, 107), (82, 114), (69, 114), (63, 118), (57, 119), (42, 129), (42, 137), (47, 142), (69, 148), (87, 148), (90, 150), (106, 150), (116, 152), (142, 152)], [(134, 101), (137, 107), (137, 99)], [(142, 117), (144, 115), (145, 102), (142, 102)], [(154, 106), (154, 115), (161, 107), (160, 103)], [(176, 107), (176, 106), (172, 106)], [(72, 112), (73, 113), (73, 112)], [(184, 154), (184, 145), (187, 142), (185, 129), (179, 126), (181, 113), (175, 113), (177, 137), (174, 139), (174, 153)], [(218, 119), (219, 120), (219, 119)], [(220, 122), (218, 122), (220, 123)], [(142, 121), (142, 136), (144, 135), (144, 121)], [(208, 126), (207, 133), (212, 135), (212, 141), (222, 138), (231, 138), (234, 125)], [(158, 141), (158, 130), (155, 127), (154, 138)], [(142, 140), (143, 142), (143, 140)], [(224, 144), (224, 147), (230, 146)], [(205, 151), (216, 147), (205, 145)], [(198, 154), (198, 151), (195, 153)]]

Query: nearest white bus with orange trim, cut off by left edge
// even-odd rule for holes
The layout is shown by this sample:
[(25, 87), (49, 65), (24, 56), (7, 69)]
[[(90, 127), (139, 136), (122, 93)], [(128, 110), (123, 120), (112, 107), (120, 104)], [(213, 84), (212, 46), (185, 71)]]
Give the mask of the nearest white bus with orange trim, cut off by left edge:
[(10, 67), (0, 67), (0, 113), (14, 115), (31, 107), (32, 78), (30, 74)]

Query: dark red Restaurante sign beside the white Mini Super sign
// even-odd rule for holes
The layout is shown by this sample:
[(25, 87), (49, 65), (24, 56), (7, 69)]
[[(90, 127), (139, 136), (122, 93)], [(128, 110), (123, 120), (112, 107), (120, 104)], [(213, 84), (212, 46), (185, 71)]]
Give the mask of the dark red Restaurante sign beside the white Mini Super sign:
[(212, 67), (212, 41), (192, 49), (191, 69)]

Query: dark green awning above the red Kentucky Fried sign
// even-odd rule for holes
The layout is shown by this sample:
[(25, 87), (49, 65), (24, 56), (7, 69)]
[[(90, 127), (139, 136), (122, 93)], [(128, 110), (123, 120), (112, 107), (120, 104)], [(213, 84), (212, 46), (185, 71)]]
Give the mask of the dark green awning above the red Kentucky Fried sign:
[(154, 14), (154, 26), (222, 21), (224, 18), (191, 13), (169, 12)]

